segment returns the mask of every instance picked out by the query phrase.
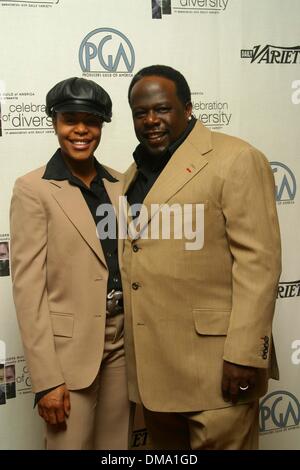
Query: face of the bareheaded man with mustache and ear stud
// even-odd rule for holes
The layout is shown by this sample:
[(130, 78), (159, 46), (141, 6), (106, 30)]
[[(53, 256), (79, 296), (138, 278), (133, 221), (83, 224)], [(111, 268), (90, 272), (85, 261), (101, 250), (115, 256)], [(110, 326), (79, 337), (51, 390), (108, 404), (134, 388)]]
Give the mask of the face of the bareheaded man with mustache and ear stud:
[(150, 76), (139, 80), (130, 94), (135, 134), (150, 155), (160, 156), (184, 132), (192, 112), (176, 94), (171, 80)]

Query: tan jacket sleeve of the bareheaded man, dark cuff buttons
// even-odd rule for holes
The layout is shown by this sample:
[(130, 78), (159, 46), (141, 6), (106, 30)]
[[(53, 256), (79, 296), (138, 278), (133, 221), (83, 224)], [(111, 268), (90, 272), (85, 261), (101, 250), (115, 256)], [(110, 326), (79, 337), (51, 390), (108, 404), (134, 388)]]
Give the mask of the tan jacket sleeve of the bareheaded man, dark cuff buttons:
[(267, 368), (281, 248), (274, 177), (258, 150), (246, 147), (234, 160), (222, 204), (233, 258), (232, 313), (224, 359)]

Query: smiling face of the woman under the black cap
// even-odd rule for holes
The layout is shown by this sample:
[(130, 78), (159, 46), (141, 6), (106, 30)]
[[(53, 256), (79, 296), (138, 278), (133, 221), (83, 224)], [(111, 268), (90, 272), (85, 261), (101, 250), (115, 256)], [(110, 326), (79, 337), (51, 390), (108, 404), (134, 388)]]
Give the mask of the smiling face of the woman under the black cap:
[(53, 121), (63, 155), (84, 161), (99, 145), (102, 121), (89, 113), (57, 113)]

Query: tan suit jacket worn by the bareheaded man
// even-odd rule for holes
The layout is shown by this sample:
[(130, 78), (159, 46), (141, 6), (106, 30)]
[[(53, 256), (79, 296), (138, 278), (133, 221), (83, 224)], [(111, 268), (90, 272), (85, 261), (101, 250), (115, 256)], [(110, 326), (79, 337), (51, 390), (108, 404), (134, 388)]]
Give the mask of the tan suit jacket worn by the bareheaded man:
[[(134, 164), (127, 188), (135, 176)], [(125, 242), (130, 398), (154, 411), (229, 406), (223, 359), (260, 368), (243, 397), (263, 395), (267, 378), (278, 376), (271, 328), (281, 270), (269, 163), (248, 143), (197, 122), (144, 200), (144, 234), (151, 204), (203, 204), (204, 245), (187, 250), (190, 240), (150, 235)]]

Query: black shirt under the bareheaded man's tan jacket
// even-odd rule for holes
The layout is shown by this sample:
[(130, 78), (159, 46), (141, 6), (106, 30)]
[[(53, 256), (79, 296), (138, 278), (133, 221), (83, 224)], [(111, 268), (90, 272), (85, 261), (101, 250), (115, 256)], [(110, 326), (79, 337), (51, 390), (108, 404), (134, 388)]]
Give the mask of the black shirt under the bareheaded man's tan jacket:
[[(192, 117), (187, 128), (176, 142), (174, 142), (160, 157), (149, 155), (145, 148), (139, 144), (133, 153), (137, 165), (138, 174), (127, 191), (127, 200), (130, 205), (142, 204), (151, 187), (163, 171), (175, 150), (184, 142), (194, 128), (197, 119)], [(137, 214), (138, 215), (138, 214)]]

